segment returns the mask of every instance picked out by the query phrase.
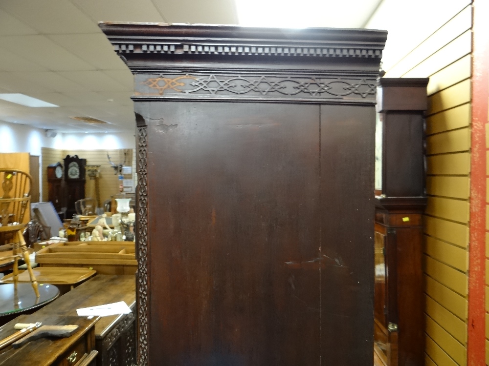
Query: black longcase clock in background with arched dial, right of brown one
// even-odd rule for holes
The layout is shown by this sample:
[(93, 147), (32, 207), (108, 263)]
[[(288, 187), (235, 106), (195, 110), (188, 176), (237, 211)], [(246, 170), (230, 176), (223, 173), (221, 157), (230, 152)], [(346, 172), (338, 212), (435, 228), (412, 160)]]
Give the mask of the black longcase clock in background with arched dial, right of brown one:
[(78, 155), (67, 155), (64, 161), (67, 218), (71, 218), (76, 213), (75, 202), (85, 198), (85, 165), (87, 165), (87, 159), (80, 159)]

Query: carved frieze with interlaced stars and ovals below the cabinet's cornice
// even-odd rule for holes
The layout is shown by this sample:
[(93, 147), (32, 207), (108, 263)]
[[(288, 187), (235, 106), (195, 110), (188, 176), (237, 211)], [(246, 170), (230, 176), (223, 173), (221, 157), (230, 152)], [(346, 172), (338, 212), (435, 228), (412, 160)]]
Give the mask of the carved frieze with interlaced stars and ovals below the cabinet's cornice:
[(160, 73), (135, 75), (134, 99), (144, 97), (375, 101), (376, 75)]

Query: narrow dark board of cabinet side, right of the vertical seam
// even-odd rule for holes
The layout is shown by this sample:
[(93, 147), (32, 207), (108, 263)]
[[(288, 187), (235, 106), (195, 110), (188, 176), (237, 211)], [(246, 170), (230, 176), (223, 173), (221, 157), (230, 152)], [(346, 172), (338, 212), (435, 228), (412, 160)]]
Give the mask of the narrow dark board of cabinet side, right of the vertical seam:
[(374, 125), (371, 107), (321, 106), (324, 365), (373, 362)]

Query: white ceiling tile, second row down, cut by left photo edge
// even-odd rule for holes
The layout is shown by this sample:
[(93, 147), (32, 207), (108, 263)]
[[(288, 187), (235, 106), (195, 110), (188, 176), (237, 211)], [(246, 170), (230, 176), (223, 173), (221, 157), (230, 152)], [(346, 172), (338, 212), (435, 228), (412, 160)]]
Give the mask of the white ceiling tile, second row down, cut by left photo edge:
[(91, 70), (93, 66), (42, 35), (0, 37), (0, 47), (52, 70)]

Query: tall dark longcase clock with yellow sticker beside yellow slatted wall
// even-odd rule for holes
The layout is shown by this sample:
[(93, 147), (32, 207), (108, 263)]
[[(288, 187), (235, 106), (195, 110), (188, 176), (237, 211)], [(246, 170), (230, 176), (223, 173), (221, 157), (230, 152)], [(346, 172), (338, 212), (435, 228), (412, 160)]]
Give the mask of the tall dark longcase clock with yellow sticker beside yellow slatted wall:
[(427, 83), (382, 78), (377, 93), (374, 349), (386, 366), (424, 365)]

